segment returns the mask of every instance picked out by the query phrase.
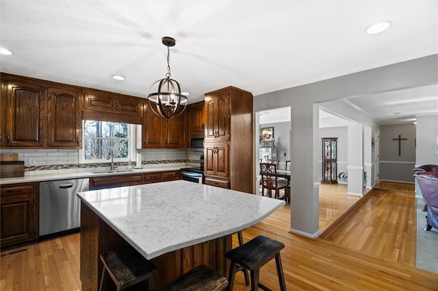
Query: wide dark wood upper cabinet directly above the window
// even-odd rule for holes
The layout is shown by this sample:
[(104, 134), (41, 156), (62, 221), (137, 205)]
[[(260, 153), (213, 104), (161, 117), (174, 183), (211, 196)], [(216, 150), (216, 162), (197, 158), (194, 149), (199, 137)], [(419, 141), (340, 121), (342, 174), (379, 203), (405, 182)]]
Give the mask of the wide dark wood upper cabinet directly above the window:
[(141, 124), (142, 100), (133, 96), (86, 89), (83, 98), (83, 119)]

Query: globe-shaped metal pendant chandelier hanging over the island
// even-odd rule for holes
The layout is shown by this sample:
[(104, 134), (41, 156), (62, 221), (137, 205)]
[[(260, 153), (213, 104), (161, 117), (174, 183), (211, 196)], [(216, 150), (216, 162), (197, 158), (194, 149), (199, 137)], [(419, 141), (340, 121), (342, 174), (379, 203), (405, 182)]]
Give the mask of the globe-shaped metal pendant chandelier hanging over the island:
[(149, 106), (159, 116), (170, 119), (183, 113), (187, 105), (187, 96), (181, 94), (181, 86), (170, 79), (170, 46), (175, 46), (175, 39), (165, 36), (162, 42), (167, 46), (166, 78), (156, 81), (149, 89)]

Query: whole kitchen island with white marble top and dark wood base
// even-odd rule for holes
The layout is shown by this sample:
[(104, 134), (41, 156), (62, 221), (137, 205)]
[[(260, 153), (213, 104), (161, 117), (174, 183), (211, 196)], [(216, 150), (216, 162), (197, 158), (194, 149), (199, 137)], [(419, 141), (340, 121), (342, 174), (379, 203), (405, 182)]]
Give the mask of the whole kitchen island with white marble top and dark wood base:
[(231, 235), (284, 202), (178, 180), (86, 191), (81, 198), (82, 290), (97, 290), (99, 254), (131, 245), (159, 269), (155, 285), (205, 264), (228, 275)]

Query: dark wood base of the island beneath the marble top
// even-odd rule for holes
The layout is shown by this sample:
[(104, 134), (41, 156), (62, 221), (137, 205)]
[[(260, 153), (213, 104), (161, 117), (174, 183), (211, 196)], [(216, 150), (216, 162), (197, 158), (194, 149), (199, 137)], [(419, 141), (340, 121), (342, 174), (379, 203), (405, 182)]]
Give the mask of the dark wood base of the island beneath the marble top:
[[(103, 264), (99, 254), (129, 243), (107, 225), (93, 210), (81, 202), (81, 284), (83, 291), (99, 290)], [(184, 247), (165, 253), (151, 262), (158, 268), (154, 277), (155, 287), (159, 287), (190, 271), (200, 264), (209, 266), (220, 275), (227, 277), (230, 262), (225, 253), (232, 248), (232, 235), (223, 236), (205, 243)], [(144, 287), (144, 286), (142, 286)], [(144, 287), (143, 290), (147, 290)]]

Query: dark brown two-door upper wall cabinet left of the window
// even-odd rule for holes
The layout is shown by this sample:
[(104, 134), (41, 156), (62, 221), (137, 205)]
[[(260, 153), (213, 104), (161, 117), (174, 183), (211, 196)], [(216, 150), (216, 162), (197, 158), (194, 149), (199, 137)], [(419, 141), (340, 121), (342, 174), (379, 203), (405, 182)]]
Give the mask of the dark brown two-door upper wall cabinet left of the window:
[(80, 148), (80, 99), (73, 86), (2, 73), (0, 146)]

